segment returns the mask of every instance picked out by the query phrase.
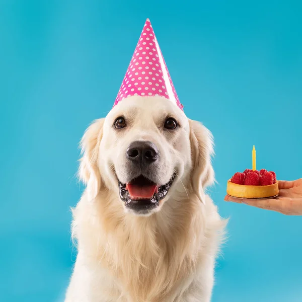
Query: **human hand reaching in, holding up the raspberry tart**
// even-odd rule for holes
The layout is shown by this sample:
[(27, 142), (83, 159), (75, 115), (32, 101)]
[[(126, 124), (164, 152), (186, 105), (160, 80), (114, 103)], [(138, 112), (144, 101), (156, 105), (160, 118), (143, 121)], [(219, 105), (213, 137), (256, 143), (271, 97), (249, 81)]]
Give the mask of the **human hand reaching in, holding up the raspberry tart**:
[(302, 178), (293, 181), (279, 180), (279, 195), (270, 199), (239, 199), (226, 195), (225, 201), (244, 203), (285, 215), (302, 215)]

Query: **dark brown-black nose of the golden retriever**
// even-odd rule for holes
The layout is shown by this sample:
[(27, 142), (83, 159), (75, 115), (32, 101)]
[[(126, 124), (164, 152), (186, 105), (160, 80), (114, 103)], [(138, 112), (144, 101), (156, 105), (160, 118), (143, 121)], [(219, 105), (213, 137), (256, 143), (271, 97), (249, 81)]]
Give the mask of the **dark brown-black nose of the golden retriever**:
[(158, 159), (159, 152), (154, 143), (137, 140), (130, 143), (126, 156), (130, 161), (137, 164), (149, 165)]

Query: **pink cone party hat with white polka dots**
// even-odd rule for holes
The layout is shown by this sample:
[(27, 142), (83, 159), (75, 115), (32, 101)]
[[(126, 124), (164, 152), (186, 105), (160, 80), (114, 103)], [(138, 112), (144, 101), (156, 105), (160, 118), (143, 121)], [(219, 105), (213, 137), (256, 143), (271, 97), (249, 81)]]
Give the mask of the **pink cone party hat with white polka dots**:
[(163, 96), (183, 110), (149, 19), (145, 22), (113, 107), (129, 96)]

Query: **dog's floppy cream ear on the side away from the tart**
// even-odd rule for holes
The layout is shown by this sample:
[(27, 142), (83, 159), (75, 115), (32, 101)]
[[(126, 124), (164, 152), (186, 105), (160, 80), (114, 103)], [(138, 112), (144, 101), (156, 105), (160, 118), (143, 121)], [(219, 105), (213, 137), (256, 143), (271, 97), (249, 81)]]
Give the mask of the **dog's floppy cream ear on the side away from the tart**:
[(90, 199), (94, 199), (102, 185), (98, 168), (99, 145), (103, 135), (104, 118), (95, 120), (85, 131), (81, 140), (79, 176), (87, 185)]

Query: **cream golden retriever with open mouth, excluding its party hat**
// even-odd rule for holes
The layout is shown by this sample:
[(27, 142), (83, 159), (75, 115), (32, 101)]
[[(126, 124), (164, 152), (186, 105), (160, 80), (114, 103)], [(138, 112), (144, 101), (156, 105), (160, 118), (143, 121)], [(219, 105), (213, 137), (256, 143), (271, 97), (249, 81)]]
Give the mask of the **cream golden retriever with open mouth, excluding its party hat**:
[(81, 146), (65, 302), (210, 301), (226, 220), (205, 193), (209, 130), (164, 97), (131, 96)]

